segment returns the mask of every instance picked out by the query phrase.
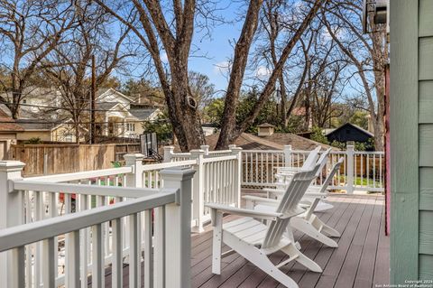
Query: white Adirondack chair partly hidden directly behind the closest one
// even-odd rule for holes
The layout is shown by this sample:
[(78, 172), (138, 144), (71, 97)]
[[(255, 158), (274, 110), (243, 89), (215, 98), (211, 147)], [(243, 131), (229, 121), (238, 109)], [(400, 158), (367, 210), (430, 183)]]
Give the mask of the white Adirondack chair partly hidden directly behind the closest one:
[[(336, 172), (340, 169), (341, 164), (344, 162), (344, 158), (340, 158), (339, 161), (334, 165), (332, 170), (327, 175), (327, 179), (323, 182), (320, 190), (317, 193), (310, 193), (310, 196), (314, 196), (315, 199), (309, 206), (305, 213), (299, 214), (297, 217), (290, 219), (290, 227), (298, 229), (300, 232), (305, 233), (309, 237), (312, 237), (319, 242), (330, 246), (337, 247), (338, 244), (335, 240), (330, 237), (340, 237), (340, 233), (336, 229), (327, 226), (322, 220), (314, 214), (314, 211), (318, 205), (318, 202), (327, 196), (327, 186), (334, 178)], [(277, 205), (280, 204), (280, 200), (265, 199), (256, 196), (244, 196), (247, 200), (248, 207), (253, 207), (253, 209), (261, 210), (272, 210)], [(289, 232), (291, 233), (291, 231)]]

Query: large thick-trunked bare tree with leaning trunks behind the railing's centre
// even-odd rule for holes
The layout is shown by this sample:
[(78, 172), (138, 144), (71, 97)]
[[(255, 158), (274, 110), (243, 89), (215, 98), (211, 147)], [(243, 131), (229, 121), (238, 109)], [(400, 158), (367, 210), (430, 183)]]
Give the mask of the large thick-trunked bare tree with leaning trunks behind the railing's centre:
[[(283, 64), (289, 57), (290, 51), (324, 1), (313, 1), (313, 5), (309, 6), (309, 13), (299, 23), (299, 29), (293, 33), (284, 46), (281, 57), (277, 61), (267, 85), (263, 88), (260, 98), (262, 102), (271, 96), (275, 81), (280, 77)], [(212, 15), (212, 11), (209, 9), (209, 7), (213, 7), (212, 2), (196, 3), (194, 0), (184, 2), (175, 0), (171, 6), (164, 3), (164, 9), (162, 9), (161, 3), (156, 0), (143, 0), (143, 4), (138, 0), (132, 0), (124, 5), (114, 5), (104, 0), (96, 0), (96, 2), (106, 11), (115, 15), (121, 23), (130, 27), (150, 53), (169, 109), (170, 122), (181, 149), (198, 148), (200, 144), (204, 143), (204, 135), (200, 125), (198, 103), (189, 87), (188, 61), (192, 36), (194, 29), (198, 26), (197, 19), (204, 19), (204, 22), (207, 22), (208, 17)], [(241, 35), (235, 43), (233, 66), (226, 89), (223, 126), (217, 149), (225, 148), (241, 135), (248, 125), (253, 123), (254, 118), (263, 107), (263, 104), (258, 102), (245, 122), (236, 125), (235, 110), (262, 5), (263, 0), (250, 1), (244, 17)], [(164, 11), (170, 13), (164, 14)], [(167, 54), (168, 70), (164, 70), (161, 49)]]

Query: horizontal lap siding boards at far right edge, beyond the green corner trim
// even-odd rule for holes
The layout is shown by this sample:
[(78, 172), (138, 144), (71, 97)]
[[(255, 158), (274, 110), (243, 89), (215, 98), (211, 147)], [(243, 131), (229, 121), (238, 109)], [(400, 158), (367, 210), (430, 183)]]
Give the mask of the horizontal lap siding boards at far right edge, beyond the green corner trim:
[[(419, 278), (433, 279), (433, 1), (419, 0)], [(428, 114), (428, 116), (427, 116)]]

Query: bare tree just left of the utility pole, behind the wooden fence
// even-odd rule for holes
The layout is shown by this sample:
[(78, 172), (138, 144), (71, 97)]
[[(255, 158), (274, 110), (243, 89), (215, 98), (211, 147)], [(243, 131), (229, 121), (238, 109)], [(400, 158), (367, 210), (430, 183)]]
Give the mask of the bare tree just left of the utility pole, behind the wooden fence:
[[(41, 70), (59, 88), (61, 110), (72, 119), (76, 142), (83, 136), (82, 125), (88, 119), (91, 92), (92, 58), (96, 62), (96, 88), (104, 84), (110, 73), (119, 68), (133, 52), (123, 51), (122, 43), (129, 33), (129, 28), (120, 31), (117, 38), (109, 32), (111, 15), (101, 11), (90, 2), (75, 6), (77, 27), (69, 33), (64, 42), (56, 45), (50, 55), (41, 64)], [(87, 120), (89, 121), (89, 120)]]

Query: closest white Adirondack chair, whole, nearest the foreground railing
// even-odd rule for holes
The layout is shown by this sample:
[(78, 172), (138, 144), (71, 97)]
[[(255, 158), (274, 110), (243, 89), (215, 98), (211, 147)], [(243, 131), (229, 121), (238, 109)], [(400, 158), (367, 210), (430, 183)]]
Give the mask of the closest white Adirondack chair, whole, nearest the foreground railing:
[[(278, 282), (290, 288), (298, 287), (287, 274), (279, 269), (283, 265), (296, 260), (311, 271), (322, 272), (322, 268), (313, 260), (303, 255), (295, 246), (292, 237), (285, 234), (290, 230), (290, 218), (305, 212), (299, 207), (299, 200), (315, 179), (318, 171), (316, 165), (314, 170), (297, 172), (282, 196), (281, 202), (273, 211), (261, 211), (252, 209), (236, 209), (220, 204), (207, 204), (211, 209), (212, 225), (214, 226), (212, 273), (221, 273), (221, 258), (234, 252), (244, 256), (245, 259), (269, 274)], [(223, 213), (244, 216), (234, 221), (223, 224)], [(258, 219), (268, 220), (269, 225), (263, 224)], [(233, 251), (221, 254), (222, 243), (230, 246)], [(286, 261), (279, 265), (273, 265), (268, 255), (281, 250), (289, 255)]]

